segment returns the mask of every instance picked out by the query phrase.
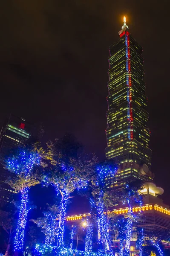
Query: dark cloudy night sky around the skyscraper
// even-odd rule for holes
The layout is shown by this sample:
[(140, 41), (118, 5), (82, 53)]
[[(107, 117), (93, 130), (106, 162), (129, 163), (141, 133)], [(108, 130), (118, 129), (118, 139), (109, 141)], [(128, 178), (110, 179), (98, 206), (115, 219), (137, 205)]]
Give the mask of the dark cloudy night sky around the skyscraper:
[(104, 158), (108, 47), (127, 16), (143, 47), (152, 172), (170, 204), (168, 0), (11, 0), (0, 6), (0, 124), (10, 111), (43, 122), (45, 139), (71, 132)]

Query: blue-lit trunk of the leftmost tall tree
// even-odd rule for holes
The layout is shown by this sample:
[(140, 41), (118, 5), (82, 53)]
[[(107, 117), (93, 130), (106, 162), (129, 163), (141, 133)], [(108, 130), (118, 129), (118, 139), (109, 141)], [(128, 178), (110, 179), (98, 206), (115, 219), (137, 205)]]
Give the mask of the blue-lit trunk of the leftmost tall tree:
[[(24, 230), (26, 227), (27, 220), (27, 203), (28, 203), (28, 188), (23, 189), (21, 191), (21, 204), (20, 204), (20, 213), (17, 223), (17, 231), (14, 238), (14, 249), (15, 253), (18, 255), (22, 255), (23, 253), (23, 238), (24, 238)], [(17, 254), (16, 254), (17, 255)]]

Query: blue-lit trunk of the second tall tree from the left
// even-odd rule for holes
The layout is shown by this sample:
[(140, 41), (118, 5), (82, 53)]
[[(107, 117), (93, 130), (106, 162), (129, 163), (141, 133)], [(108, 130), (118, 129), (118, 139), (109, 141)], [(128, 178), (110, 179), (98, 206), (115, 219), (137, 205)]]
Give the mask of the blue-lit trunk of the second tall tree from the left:
[(60, 217), (58, 224), (58, 233), (57, 233), (57, 246), (61, 247), (64, 244), (64, 222), (66, 217), (66, 206), (68, 194), (65, 191), (62, 191), (61, 205), (60, 205)]

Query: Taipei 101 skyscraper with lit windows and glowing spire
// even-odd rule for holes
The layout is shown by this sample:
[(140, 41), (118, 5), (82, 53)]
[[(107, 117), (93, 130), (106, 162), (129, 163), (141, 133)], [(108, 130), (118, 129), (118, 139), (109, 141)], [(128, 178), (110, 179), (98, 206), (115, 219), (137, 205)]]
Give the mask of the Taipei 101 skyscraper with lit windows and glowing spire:
[(110, 186), (136, 178), (153, 180), (143, 62), (142, 47), (130, 35), (124, 17), (119, 40), (109, 47), (106, 157), (119, 164)]

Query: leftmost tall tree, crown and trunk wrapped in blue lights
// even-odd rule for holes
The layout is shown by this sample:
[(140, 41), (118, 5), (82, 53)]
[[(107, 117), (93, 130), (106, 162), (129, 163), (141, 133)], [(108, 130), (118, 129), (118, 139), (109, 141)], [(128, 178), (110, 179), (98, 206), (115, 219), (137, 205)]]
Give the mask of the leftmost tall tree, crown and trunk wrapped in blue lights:
[(14, 177), (9, 179), (8, 184), (21, 193), (20, 212), (17, 223), (17, 230), (14, 239), (14, 249), (16, 254), (23, 253), (24, 230), (26, 227), (28, 208), (28, 192), (31, 186), (35, 186), (40, 181), (34, 167), (40, 165), (40, 155), (31, 147), (17, 148), (13, 154), (8, 156), (5, 161), (5, 167)]

